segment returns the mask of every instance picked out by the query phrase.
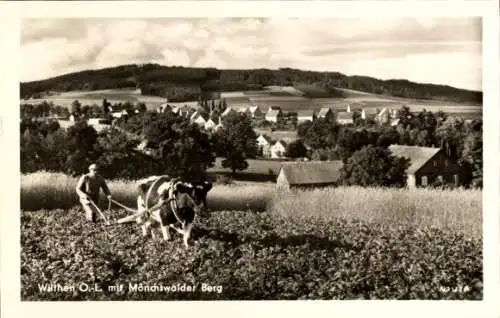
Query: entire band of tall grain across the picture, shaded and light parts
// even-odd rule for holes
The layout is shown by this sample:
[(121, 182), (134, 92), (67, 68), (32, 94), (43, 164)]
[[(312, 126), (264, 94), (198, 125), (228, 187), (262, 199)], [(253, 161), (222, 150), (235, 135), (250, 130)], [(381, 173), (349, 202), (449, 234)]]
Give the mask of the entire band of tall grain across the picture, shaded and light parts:
[[(78, 204), (77, 179), (37, 172), (21, 177), (21, 209), (71, 208)], [(135, 208), (136, 182), (108, 182), (115, 200)], [(339, 187), (275, 191), (272, 183), (214, 185), (213, 211), (269, 211), (277, 215), (360, 219), (387, 225), (449, 228), (482, 236), (482, 191)], [(106, 204), (103, 200), (103, 204)], [(117, 208), (114, 206), (114, 208)]]

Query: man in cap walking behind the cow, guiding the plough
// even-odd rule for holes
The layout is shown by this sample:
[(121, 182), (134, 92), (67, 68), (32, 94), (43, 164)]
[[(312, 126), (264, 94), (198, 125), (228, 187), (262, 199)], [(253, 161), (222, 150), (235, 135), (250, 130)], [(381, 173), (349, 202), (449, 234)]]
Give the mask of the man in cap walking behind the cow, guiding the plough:
[(106, 185), (106, 181), (98, 174), (97, 165), (91, 164), (89, 166), (89, 173), (84, 174), (76, 186), (76, 193), (80, 197), (80, 203), (85, 210), (87, 221), (95, 222), (96, 213), (98, 213), (96, 206), (99, 204), (99, 190), (101, 189), (108, 199), (111, 200), (111, 192)]

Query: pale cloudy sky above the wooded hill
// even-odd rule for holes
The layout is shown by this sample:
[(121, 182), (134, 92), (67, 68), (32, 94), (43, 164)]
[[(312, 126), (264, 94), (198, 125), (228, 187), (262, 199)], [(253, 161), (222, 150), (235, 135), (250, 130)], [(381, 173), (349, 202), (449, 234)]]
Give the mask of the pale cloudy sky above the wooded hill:
[(480, 17), (25, 19), (21, 81), (123, 64), (291, 67), (481, 90)]

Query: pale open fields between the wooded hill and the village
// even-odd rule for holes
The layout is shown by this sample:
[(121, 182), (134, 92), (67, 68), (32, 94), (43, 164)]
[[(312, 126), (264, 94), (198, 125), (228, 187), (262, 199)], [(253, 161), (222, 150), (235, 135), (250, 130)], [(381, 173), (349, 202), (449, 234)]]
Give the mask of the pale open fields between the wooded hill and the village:
[[(348, 103), (358, 105), (364, 108), (382, 108), (393, 107), (400, 108), (403, 105), (410, 107), (412, 111), (418, 112), (422, 109), (437, 112), (442, 110), (447, 113), (453, 113), (466, 116), (467, 118), (477, 118), (482, 116), (482, 107), (480, 105), (460, 105), (440, 101), (411, 100), (396, 97), (380, 96), (361, 91), (339, 89), (344, 92), (345, 98), (308, 98), (304, 97), (303, 92), (289, 86), (269, 86), (262, 91), (245, 92), (222, 92), (222, 98), (225, 98), (228, 105), (233, 107), (256, 105), (264, 109), (270, 106), (280, 106), (284, 111), (299, 110), (319, 110), (321, 107), (333, 107), (338, 110), (344, 110)], [(165, 98), (157, 96), (144, 96), (135, 89), (114, 89), (99, 91), (73, 91), (60, 94), (54, 94), (41, 99), (30, 99), (23, 101), (25, 103), (38, 104), (43, 101), (52, 101), (56, 105), (71, 107), (71, 103), (78, 99), (82, 105), (101, 105), (103, 98), (111, 103), (117, 102), (144, 102), (148, 109), (154, 110), (160, 104), (164, 103)], [(171, 103), (178, 105), (192, 105), (196, 102)], [(356, 107), (358, 107), (356, 106)]]

